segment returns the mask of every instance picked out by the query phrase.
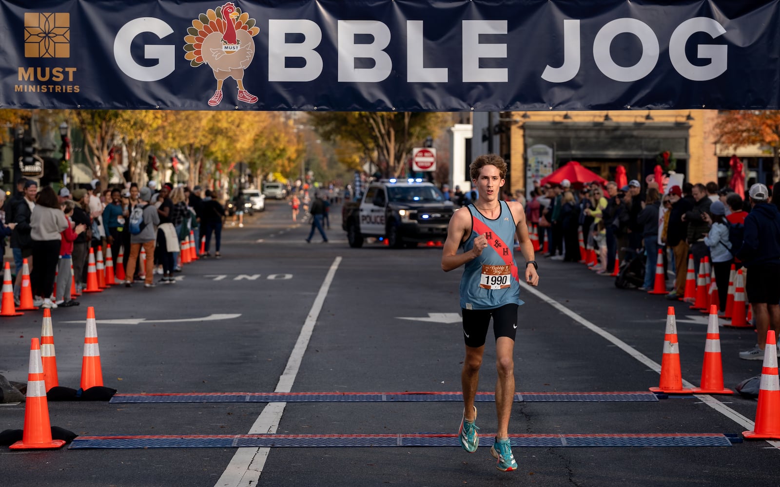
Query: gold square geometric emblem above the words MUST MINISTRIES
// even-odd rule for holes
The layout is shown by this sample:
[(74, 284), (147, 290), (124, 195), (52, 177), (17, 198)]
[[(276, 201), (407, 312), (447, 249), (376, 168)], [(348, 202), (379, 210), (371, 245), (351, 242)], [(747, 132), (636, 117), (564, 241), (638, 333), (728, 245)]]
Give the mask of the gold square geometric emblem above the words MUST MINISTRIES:
[(69, 58), (70, 14), (25, 12), (25, 58)]

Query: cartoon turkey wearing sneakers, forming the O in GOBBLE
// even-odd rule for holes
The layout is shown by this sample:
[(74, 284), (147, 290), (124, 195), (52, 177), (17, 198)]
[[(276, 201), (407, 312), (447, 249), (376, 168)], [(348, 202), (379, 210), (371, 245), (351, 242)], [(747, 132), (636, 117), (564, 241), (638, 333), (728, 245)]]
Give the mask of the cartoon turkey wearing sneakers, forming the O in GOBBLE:
[(215, 10), (208, 9), (193, 20), (193, 26), (187, 29), (184, 37), (187, 61), (193, 67), (207, 64), (214, 71), (217, 90), (208, 104), (215, 107), (222, 101), (222, 83), (232, 77), (239, 88), (238, 99), (246, 103), (256, 103), (257, 97), (244, 89), (244, 69), (254, 58), (254, 40), (260, 33), (255, 19), (236, 9), (236, 5), (227, 2)]

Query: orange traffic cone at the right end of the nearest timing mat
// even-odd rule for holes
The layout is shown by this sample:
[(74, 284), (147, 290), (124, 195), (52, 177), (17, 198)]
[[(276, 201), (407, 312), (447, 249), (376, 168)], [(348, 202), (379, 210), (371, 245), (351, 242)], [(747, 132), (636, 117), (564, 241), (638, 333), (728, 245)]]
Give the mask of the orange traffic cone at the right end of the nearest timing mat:
[(743, 432), (745, 439), (780, 439), (780, 381), (778, 381), (778, 354), (775, 330), (767, 332), (764, 348), (764, 366), (758, 390), (756, 423), (753, 430)]

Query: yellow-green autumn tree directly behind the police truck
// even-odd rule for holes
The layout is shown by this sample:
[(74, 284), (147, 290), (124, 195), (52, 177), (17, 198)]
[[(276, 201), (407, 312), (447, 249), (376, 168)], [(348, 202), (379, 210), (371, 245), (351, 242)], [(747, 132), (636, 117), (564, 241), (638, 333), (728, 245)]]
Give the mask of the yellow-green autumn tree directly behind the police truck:
[(414, 146), (427, 136), (435, 136), (443, 114), (427, 112), (317, 112), (310, 122), (317, 133), (332, 143), (353, 143), (377, 164), (385, 176), (406, 171), (406, 161)]

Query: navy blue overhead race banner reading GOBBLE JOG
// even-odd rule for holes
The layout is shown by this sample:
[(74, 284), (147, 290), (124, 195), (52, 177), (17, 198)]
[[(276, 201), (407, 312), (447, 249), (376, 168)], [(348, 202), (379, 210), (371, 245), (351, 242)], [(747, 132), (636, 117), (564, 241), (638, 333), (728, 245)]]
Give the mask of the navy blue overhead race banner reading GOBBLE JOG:
[(780, 0), (0, 0), (0, 108), (777, 109)]

